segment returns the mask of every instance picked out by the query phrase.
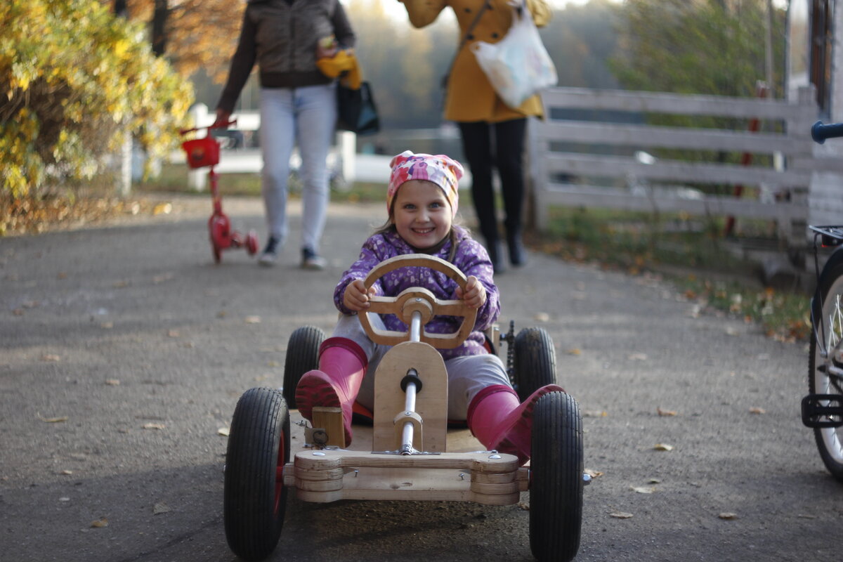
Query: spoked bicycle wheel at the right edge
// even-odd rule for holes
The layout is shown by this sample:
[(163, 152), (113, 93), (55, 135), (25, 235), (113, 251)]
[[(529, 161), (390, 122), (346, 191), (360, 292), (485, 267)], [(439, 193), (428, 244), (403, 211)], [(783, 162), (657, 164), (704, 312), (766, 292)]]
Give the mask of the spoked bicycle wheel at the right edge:
[[(820, 302), (822, 308), (820, 309)], [(843, 381), (830, 377), (821, 367), (825, 361), (820, 356), (817, 338), (823, 338), (825, 349), (830, 352), (843, 340), (843, 263), (838, 261), (819, 276), (817, 292), (812, 302), (813, 321), (821, 325), (811, 330), (811, 346), (808, 356), (808, 392), (811, 394), (843, 394)], [(830, 365), (843, 367), (843, 351), (834, 351)], [(840, 420), (830, 416), (829, 421)], [(819, 456), (825, 468), (835, 479), (843, 482), (843, 427), (815, 427), (813, 435), (817, 441)]]

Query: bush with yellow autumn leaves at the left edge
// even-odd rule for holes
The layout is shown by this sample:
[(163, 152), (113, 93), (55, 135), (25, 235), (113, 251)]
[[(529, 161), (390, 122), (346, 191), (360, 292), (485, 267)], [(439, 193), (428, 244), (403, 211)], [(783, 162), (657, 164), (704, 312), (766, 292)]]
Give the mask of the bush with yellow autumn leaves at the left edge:
[(192, 86), (141, 24), (98, 0), (7, 0), (0, 29), (0, 194), (91, 178), (126, 131), (151, 158), (175, 147)]

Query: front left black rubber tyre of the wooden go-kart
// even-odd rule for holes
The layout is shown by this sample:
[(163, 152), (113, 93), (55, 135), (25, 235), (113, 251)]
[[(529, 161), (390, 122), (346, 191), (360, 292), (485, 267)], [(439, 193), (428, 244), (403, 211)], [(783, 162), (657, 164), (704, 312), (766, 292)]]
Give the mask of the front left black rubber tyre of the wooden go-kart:
[(290, 415), (282, 393), (251, 388), (240, 397), (225, 455), (225, 538), (246, 560), (272, 554), (284, 524), (287, 488), (282, 468), (290, 460)]

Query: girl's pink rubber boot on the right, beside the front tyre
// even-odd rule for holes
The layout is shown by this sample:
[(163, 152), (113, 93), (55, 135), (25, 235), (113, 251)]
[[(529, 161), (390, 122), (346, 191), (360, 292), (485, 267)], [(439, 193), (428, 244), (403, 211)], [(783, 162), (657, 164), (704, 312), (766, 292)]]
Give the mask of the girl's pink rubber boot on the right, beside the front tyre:
[(471, 433), (487, 449), (506, 452), (524, 464), (530, 457), (530, 434), (533, 429), (533, 408), (546, 393), (565, 392), (556, 384), (548, 384), (518, 404), (518, 393), (502, 384), (483, 388), (469, 404), (468, 425)]

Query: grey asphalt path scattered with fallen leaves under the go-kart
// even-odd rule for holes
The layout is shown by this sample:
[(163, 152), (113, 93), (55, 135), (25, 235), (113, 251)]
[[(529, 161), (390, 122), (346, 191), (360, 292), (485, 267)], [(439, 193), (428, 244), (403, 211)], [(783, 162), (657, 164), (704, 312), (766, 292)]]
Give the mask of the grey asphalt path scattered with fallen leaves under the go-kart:
[[(330, 332), (331, 293), (382, 206), (332, 206), (324, 272), (214, 265), (210, 204), (0, 238), (0, 560), (231, 561), (223, 462), (240, 394), (282, 383), (287, 338)], [(260, 203), (223, 201), (264, 232)], [(191, 208), (193, 209), (191, 211)], [(577, 560), (840, 559), (843, 486), (799, 418), (803, 344), (658, 277), (530, 254), (497, 279), (502, 323), (540, 326), (583, 412)], [(659, 450), (668, 445), (672, 450)], [(526, 561), (518, 506), (291, 495), (272, 559)]]

